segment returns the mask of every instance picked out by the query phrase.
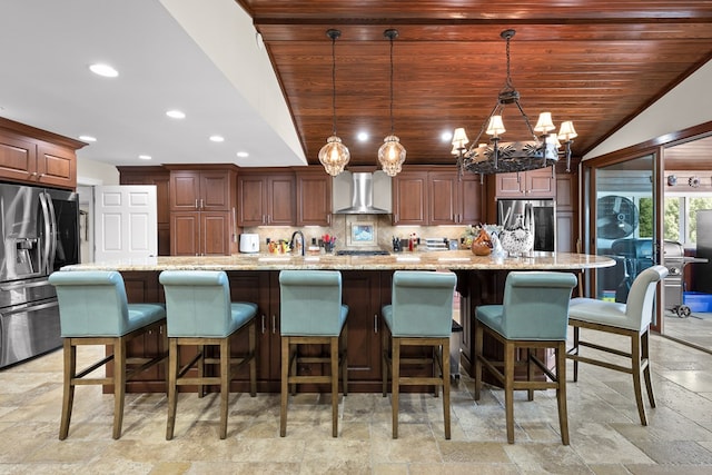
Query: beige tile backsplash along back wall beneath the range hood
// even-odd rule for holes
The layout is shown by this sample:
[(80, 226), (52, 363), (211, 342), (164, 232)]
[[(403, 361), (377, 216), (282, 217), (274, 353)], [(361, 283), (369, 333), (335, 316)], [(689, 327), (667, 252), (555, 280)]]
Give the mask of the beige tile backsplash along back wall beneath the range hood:
[(467, 228), (465, 225), (458, 226), (393, 226), (390, 224), (390, 215), (332, 215), (332, 226), (305, 226), (301, 228), (293, 226), (257, 226), (245, 227), (243, 232), (256, 232), (259, 235), (260, 251), (267, 251), (266, 239), (271, 240), (285, 239), (289, 240), (291, 234), (296, 230), (304, 232), (307, 243), (312, 243), (312, 238), (317, 240), (328, 234), (336, 236), (336, 249), (348, 246), (348, 237), (352, 225), (358, 222), (373, 224), (376, 232), (376, 244), (383, 249), (390, 250), (393, 237), (406, 239), (412, 232), (415, 232), (422, 240), (425, 238), (447, 238), (459, 240), (461, 235)]

